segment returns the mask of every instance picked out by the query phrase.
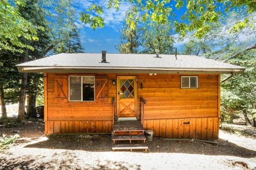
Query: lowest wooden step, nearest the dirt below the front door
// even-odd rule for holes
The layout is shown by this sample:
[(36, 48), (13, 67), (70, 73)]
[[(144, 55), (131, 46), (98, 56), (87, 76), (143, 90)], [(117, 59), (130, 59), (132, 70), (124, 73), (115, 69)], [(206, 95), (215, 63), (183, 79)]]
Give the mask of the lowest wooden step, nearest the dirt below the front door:
[(146, 143), (114, 144), (112, 150), (145, 150), (147, 152), (148, 146)]

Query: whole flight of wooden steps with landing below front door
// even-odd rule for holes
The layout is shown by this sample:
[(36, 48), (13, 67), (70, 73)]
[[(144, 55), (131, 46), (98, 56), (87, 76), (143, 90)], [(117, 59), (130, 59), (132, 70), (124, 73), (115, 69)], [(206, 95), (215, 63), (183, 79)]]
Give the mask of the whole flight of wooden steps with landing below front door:
[[(116, 121), (113, 127), (113, 147), (112, 150), (148, 150), (144, 128), (140, 121)], [(117, 141), (129, 143), (118, 143)], [(136, 143), (134, 142), (136, 141)], [(143, 143), (138, 143), (143, 142)]]

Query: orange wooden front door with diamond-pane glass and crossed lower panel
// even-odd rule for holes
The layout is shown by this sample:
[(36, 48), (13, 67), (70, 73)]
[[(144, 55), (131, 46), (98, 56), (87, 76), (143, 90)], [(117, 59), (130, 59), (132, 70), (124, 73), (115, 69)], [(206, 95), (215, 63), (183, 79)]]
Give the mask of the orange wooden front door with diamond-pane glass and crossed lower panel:
[(136, 117), (136, 77), (117, 77), (118, 117)]

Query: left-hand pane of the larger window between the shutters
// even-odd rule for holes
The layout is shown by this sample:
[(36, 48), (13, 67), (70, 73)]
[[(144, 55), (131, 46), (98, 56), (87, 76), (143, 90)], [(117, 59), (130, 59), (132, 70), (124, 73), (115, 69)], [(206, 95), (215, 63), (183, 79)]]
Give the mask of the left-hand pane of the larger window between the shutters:
[(81, 77), (69, 77), (69, 100), (81, 100)]

